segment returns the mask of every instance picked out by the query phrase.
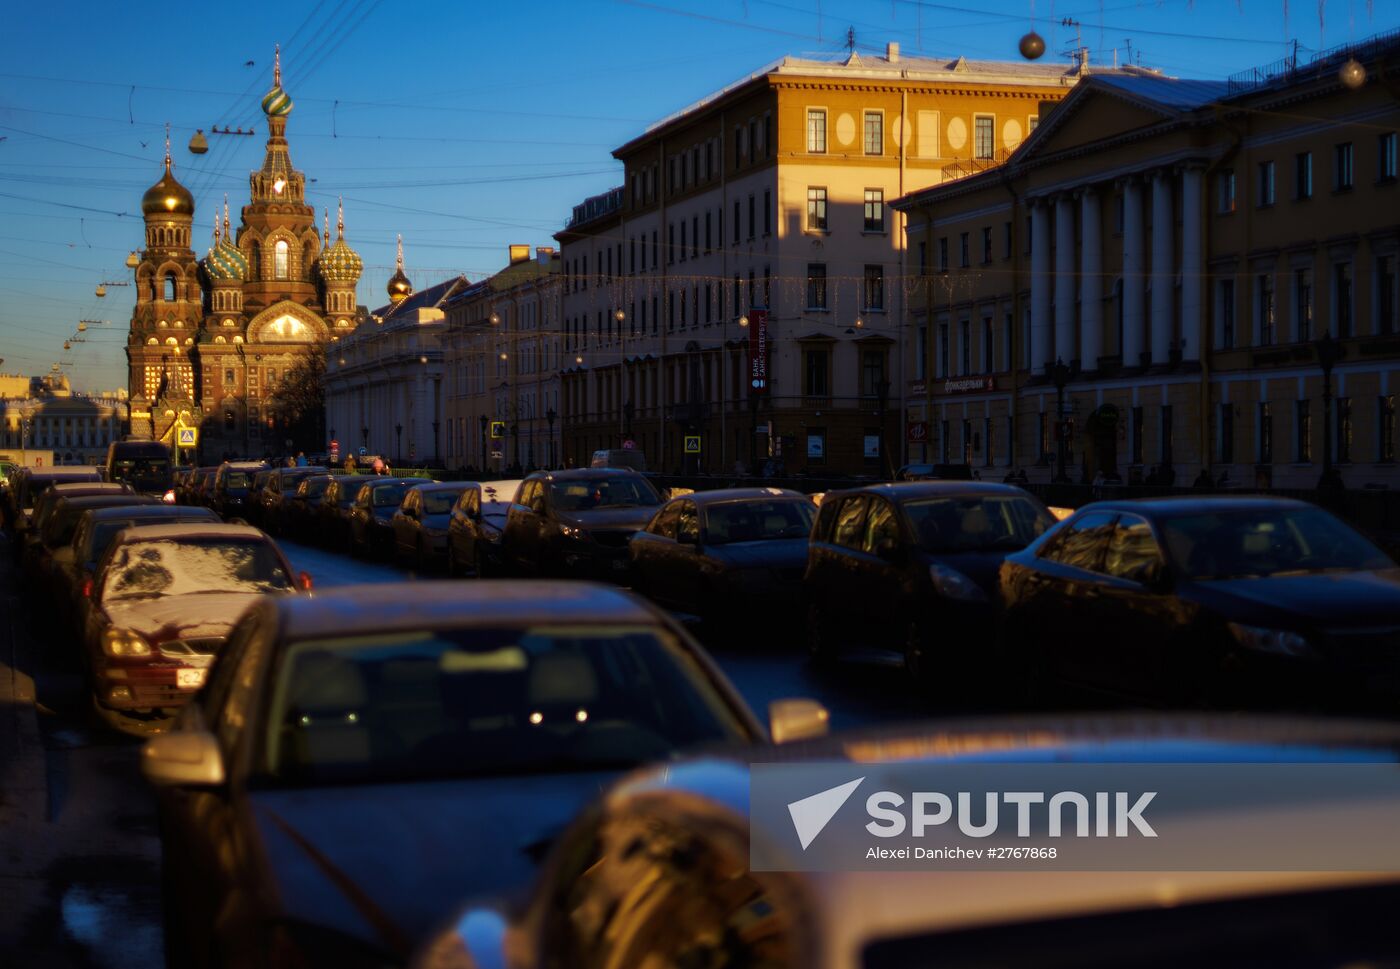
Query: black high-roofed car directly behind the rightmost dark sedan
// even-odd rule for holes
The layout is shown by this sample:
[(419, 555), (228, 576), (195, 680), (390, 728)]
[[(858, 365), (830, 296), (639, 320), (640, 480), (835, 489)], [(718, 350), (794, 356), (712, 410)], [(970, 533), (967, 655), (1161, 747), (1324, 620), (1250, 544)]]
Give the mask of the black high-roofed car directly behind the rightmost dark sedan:
[(920, 679), (983, 668), (997, 569), (1053, 525), (1039, 500), (1011, 484), (904, 482), (827, 493), (802, 580), (813, 657), (850, 646), (893, 650)]

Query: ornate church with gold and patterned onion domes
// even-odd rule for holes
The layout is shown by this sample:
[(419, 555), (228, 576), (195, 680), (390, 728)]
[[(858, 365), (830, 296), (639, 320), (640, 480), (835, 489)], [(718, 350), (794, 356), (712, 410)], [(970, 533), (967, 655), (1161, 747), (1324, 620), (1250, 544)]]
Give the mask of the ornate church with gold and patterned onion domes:
[(287, 147), (291, 108), (279, 55), (262, 99), (267, 147), (249, 175), (249, 203), (234, 228), (225, 197), (203, 259), (190, 238), (195, 197), (175, 178), (168, 137), (165, 171), (141, 199), (146, 249), (126, 346), (132, 434), (175, 447), (178, 428), (197, 428), (202, 463), (281, 454), (288, 434), (279, 382), (360, 318), (363, 262), (344, 241), (343, 207), (335, 242), (329, 211), (316, 231), (307, 178)]

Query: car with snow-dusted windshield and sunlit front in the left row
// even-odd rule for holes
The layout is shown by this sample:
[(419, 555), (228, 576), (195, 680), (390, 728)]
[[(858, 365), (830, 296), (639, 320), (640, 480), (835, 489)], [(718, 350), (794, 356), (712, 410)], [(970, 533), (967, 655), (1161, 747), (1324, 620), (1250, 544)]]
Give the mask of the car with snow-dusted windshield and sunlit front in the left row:
[(94, 707), (143, 732), (183, 706), (230, 626), (262, 595), (309, 590), (281, 549), (251, 525), (126, 528), (112, 539), (83, 592), (83, 630)]

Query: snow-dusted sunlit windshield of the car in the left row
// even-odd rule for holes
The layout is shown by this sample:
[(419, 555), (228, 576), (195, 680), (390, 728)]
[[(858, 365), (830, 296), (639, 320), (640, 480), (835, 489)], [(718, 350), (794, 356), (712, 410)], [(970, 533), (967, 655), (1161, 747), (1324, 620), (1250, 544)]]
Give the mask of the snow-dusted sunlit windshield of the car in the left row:
[(118, 549), (106, 569), (102, 599), (288, 588), (291, 577), (281, 557), (262, 539), (161, 539)]

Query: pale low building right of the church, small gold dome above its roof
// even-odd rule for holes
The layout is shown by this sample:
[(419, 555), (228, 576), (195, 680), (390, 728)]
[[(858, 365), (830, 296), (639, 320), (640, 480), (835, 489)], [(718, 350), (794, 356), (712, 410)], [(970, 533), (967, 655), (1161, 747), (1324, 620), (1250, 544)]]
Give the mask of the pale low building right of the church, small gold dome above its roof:
[(444, 307), (466, 286), (458, 276), (414, 291), (399, 239), (389, 302), (326, 350), (326, 430), (342, 455), (442, 465)]

